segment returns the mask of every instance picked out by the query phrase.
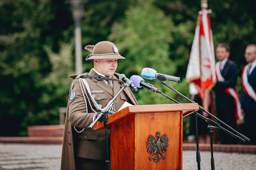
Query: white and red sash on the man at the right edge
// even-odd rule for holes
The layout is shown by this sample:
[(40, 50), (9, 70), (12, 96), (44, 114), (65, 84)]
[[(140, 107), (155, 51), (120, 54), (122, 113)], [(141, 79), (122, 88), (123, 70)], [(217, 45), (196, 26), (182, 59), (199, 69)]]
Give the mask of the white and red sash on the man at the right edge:
[(248, 69), (248, 67), (249, 67), (249, 64), (247, 64), (243, 68), (243, 72), (242, 72), (242, 86), (243, 86), (244, 92), (248, 96), (250, 96), (250, 98), (252, 98), (256, 102), (256, 93), (253, 90), (252, 86), (249, 84), (248, 78), (247, 78), (247, 69)]

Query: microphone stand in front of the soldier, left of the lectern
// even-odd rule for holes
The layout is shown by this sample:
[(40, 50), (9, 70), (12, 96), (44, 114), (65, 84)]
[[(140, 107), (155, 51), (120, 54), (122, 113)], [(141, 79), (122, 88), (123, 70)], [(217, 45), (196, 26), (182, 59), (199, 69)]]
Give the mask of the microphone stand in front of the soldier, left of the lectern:
[(105, 138), (106, 138), (106, 152), (107, 152), (107, 160), (106, 160), (106, 168), (107, 170), (110, 170), (110, 152), (109, 152), (109, 148), (108, 148), (108, 135), (107, 135), (107, 127), (108, 127), (108, 113), (109, 110), (107, 108), (109, 108), (109, 106), (112, 105), (112, 103), (114, 102), (114, 100), (117, 98), (117, 96), (127, 87), (129, 86), (127, 83), (125, 83), (122, 88), (119, 90), (119, 92), (115, 95), (115, 97), (109, 101), (109, 103), (107, 104), (106, 107), (104, 107), (102, 109), (102, 111), (100, 112), (99, 116), (94, 120), (93, 123), (90, 124), (90, 126), (88, 126), (88, 129), (91, 130), (93, 128), (93, 126), (96, 124), (96, 122), (100, 121), (100, 122), (104, 122), (104, 129), (105, 129)]

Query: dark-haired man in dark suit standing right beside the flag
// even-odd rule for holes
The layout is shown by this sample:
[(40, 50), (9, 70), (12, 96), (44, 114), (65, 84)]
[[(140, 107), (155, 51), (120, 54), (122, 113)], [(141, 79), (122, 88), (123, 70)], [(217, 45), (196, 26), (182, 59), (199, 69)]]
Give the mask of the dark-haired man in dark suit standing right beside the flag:
[[(235, 91), (237, 66), (234, 61), (228, 59), (229, 55), (229, 47), (226, 44), (220, 43), (217, 45), (216, 58), (219, 61), (216, 63), (217, 82), (213, 90), (215, 91), (217, 117), (236, 130), (236, 103), (233, 96), (228, 93), (228, 90)], [(237, 143), (233, 136), (223, 130), (220, 130), (219, 137), (222, 144)]]

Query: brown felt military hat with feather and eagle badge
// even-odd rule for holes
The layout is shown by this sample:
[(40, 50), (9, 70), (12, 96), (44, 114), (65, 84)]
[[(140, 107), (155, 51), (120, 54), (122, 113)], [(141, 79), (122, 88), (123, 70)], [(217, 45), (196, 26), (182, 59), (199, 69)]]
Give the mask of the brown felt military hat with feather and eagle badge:
[(91, 51), (85, 60), (93, 59), (125, 59), (119, 54), (118, 48), (114, 43), (109, 41), (101, 41), (95, 46), (86, 46), (85, 49)]

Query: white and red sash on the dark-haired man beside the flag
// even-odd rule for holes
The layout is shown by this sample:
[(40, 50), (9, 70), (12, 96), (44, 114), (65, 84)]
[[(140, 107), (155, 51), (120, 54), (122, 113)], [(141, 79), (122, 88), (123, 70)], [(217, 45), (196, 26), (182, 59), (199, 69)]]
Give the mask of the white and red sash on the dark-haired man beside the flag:
[[(220, 73), (220, 62), (216, 63), (216, 77), (218, 81), (224, 82), (225, 79), (222, 77), (221, 73)], [(224, 89), (225, 93), (227, 93), (228, 95), (230, 95), (231, 97), (234, 98), (235, 101), (235, 105), (236, 105), (236, 120), (242, 120), (244, 119), (244, 116), (241, 114), (241, 102), (240, 102), (240, 98), (238, 95), (238, 90), (235, 87), (235, 89), (233, 88), (225, 88)]]

